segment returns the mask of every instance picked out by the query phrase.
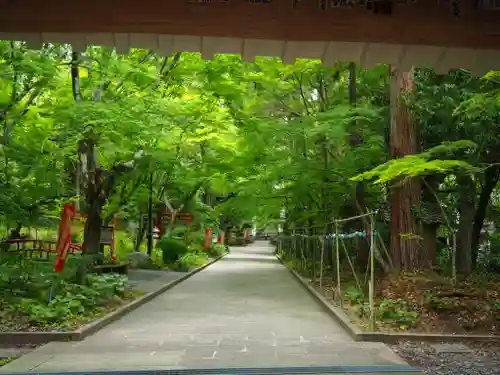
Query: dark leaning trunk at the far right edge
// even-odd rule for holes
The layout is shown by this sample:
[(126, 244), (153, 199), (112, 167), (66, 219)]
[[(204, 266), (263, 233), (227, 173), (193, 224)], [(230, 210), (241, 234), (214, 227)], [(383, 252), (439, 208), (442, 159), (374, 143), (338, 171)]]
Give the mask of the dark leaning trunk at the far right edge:
[(484, 185), (483, 188), (481, 189), (479, 202), (476, 208), (476, 215), (474, 216), (474, 225), (472, 226), (472, 238), (471, 238), (472, 268), (476, 268), (477, 255), (479, 253), (479, 240), (481, 236), (481, 230), (483, 229), (484, 219), (486, 218), (486, 211), (488, 208), (488, 204), (490, 203), (491, 193), (495, 189), (498, 182), (499, 172), (500, 168), (494, 166), (486, 169), (484, 173)]

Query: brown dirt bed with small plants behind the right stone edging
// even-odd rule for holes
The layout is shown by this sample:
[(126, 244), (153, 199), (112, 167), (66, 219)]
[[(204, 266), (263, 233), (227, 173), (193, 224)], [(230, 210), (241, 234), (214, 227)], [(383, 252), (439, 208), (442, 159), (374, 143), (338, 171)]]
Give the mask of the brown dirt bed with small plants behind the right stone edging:
[[(366, 291), (342, 279), (344, 311), (363, 330), (369, 326)], [(330, 300), (331, 278), (315, 288)], [(376, 285), (377, 330), (447, 334), (500, 335), (500, 279), (472, 277), (456, 285), (434, 273), (402, 274)]]

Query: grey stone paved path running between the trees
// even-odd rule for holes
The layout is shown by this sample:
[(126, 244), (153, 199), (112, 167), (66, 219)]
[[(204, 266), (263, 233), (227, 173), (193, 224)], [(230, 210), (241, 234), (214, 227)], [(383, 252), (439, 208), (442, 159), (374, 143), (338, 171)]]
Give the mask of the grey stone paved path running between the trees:
[(78, 343), (51, 343), (9, 371), (405, 364), (356, 343), (264, 242), (230, 255)]

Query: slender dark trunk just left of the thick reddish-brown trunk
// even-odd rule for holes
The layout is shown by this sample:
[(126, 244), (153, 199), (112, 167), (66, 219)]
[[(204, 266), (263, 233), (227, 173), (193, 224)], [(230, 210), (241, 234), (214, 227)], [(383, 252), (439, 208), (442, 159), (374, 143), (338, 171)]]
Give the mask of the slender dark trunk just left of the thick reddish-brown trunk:
[[(349, 64), (349, 102), (351, 106), (356, 106), (356, 100), (357, 100), (357, 90), (356, 90), (356, 64), (355, 63), (350, 63)], [(356, 131), (354, 131), (351, 134), (351, 139), (350, 139), (350, 144), (351, 147), (356, 147), (359, 146), (361, 143), (363, 143), (362, 136), (359, 133), (359, 130), (357, 129), (356, 126)], [(362, 171), (360, 171), (362, 172)], [(362, 182), (358, 182), (356, 184), (355, 188), (355, 193), (354, 193), (354, 200), (355, 200), (355, 206), (356, 206), (356, 211), (358, 214), (364, 214), (365, 212), (365, 186)], [(365, 232), (368, 232), (370, 230), (369, 227), (366, 227), (362, 221), (359, 221), (356, 225), (356, 229), (361, 229)], [(362, 267), (366, 267), (368, 264), (368, 260), (370, 259), (370, 243), (368, 241), (368, 237), (365, 238), (360, 238), (358, 242), (358, 260), (359, 260), (359, 265)]]

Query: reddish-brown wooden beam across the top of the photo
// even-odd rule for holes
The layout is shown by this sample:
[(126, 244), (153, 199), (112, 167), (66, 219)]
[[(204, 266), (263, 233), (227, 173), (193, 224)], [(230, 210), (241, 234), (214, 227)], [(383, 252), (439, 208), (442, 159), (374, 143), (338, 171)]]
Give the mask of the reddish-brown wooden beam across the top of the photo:
[(474, 9), (471, 4), (456, 19), (449, 7), (435, 1), (395, 5), (390, 16), (361, 6), (320, 11), (317, 1), (301, 1), (295, 7), (289, 0), (266, 4), (245, 0), (204, 4), (185, 0), (3, 1), (0, 32), (144, 33), (500, 49), (500, 13)]

